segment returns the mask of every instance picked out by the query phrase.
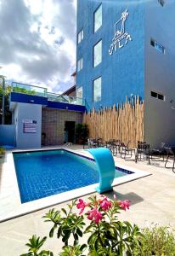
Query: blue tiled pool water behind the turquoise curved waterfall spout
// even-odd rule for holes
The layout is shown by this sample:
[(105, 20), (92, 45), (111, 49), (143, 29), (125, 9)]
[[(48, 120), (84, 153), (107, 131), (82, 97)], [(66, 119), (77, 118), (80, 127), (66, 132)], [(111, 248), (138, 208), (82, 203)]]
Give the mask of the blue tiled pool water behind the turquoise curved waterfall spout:
[[(62, 149), (14, 153), (14, 166), (22, 203), (99, 183), (93, 160)], [(116, 177), (132, 173), (125, 171)]]

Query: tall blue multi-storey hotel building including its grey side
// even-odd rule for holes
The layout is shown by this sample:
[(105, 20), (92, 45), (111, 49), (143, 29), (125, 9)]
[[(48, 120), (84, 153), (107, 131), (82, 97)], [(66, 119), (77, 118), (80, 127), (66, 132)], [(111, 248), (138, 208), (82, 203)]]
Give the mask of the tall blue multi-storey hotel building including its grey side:
[(175, 2), (78, 0), (76, 95), (88, 110), (144, 100), (144, 140), (175, 143)]

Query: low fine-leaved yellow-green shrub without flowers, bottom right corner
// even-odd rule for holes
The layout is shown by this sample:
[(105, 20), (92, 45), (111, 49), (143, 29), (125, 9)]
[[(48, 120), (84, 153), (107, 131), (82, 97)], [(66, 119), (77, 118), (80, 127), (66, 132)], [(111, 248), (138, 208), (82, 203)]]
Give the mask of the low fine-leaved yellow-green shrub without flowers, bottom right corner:
[(141, 245), (133, 251), (134, 256), (175, 255), (175, 236), (170, 228), (155, 225), (152, 228), (144, 228), (143, 234)]

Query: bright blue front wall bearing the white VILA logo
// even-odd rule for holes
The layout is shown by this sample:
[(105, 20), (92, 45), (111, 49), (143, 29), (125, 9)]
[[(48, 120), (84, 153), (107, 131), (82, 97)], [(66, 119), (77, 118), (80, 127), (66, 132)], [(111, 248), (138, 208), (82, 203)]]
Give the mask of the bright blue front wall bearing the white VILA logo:
[[(103, 25), (93, 33), (93, 12), (102, 3)], [(109, 55), (115, 23), (126, 9), (129, 16), (126, 32), (133, 41)], [(100, 108), (125, 102), (131, 94), (144, 97), (144, 3), (123, 0), (78, 0), (77, 32), (84, 30), (84, 38), (77, 45), (76, 60), (83, 57), (83, 68), (76, 72), (76, 86), (82, 86), (87, 107)], [(93, 68), (93, 45), (102, 39), (102, 62)], [(102, 99), (93, 103), (93, 79), (102, 77)]]

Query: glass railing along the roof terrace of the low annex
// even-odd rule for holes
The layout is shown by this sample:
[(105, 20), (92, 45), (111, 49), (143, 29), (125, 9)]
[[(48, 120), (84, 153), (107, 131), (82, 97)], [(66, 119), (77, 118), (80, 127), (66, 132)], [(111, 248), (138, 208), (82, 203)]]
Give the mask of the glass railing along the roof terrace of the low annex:
[(21, 84), (21, 83), (13, 82), (12, 91), (24, 93), (27, 95), (47, 97), (48, 101), (52, 101), (52, 102), (64, 102), (64, 103), (82, 105), (82, 106), (85, 105), (85, 102), (82, 98), (77, 98), (74, 96), (65, 96), (61, 94), (48, 92), (46, 88), (38, 87), (31, 84)]

